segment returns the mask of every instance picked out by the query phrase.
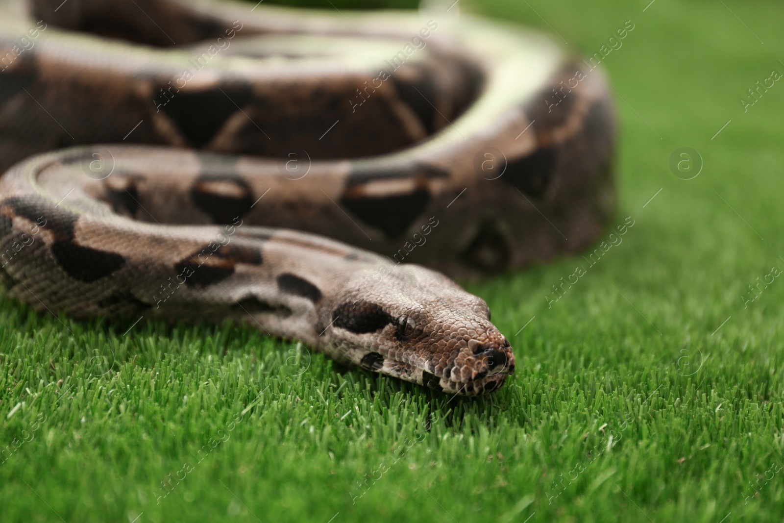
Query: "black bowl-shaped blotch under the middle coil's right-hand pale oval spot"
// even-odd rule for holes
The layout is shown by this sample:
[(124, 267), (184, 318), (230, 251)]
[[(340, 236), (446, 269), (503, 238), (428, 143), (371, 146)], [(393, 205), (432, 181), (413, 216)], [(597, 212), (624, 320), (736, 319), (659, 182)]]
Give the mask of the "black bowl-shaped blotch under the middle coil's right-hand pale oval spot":
[(430, 203), (430, 191), (419, 187), (408, 194), (391, 196), (360, 196), (344, 194), (343, 203), (360, 220), (378, 227), (390, 238), (397, 238), (408, 230)]

